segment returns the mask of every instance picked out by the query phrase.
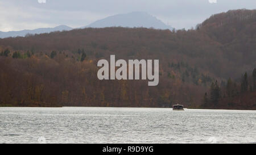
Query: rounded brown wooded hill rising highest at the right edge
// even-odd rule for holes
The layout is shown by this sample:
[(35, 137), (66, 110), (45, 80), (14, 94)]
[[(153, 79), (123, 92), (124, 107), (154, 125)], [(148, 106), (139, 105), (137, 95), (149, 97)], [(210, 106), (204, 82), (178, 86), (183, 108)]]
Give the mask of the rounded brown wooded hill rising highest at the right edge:
[(197, 30), (220, 43), (230, 61), (256, 65), (256, 10), (229, 10), (212, 15)]

